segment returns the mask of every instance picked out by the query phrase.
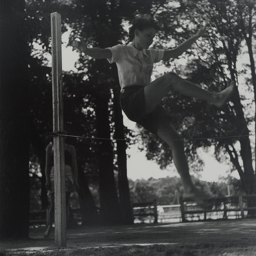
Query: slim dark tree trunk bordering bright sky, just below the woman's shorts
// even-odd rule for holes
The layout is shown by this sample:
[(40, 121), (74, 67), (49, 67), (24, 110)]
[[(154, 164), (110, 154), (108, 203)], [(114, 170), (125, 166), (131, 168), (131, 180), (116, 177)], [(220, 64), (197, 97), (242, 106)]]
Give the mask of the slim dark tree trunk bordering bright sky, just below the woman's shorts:
[(122, 110), (119, 106), (119, 88), (114, 89), (113, 106), (115, 110), (115, 138), (116, 140), (116, 153), (118, 165), (118, 191), (121, 214), (123, 216), (124, 224), (133, 223), (132, 205), (130, 200), (130, 189), (127, 178), (127, 161), (126, 161), (126, 141), (124, 134), (124, 124)]

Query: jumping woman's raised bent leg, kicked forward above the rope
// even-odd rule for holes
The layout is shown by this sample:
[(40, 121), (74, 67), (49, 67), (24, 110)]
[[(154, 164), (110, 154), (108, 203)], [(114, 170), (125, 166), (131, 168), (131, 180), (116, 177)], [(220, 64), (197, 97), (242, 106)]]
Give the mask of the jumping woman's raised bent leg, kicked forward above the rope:
[(193, 84), (173, 72), (159, 77), (144, 87), (145, 103), (147, 113), (152, 112), (162, 98), (171, 90), (178, 91), (190, 97), (206, 100), (217, 107), (222, 107), (234, 91), (235, 82), (221, 92), (209, 92)]

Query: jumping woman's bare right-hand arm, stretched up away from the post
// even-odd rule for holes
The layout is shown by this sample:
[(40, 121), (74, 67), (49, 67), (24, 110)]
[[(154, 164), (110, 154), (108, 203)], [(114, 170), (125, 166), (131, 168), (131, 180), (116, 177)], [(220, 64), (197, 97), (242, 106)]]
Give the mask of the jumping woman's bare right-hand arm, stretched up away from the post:
[(164, 51), (163, 60), (169, 60), (171, 58), (177, 58), (183, 52), (185, 52), (187, 49), (189, 49), (190, 46), (194, 42), (196, 42), (197, 38), (204, 35), (206, 25), (207, 25), (207, 22), (205, 22), (205, 24), (199, 28), (199, 30), (196, 32), (196, 34), (194, 36), (191, 36), (190, 38), (188, 38), (188, 40), (186, 40), (185, 42), (183, 42), (182, 44), (177, 46), (175, 49)]

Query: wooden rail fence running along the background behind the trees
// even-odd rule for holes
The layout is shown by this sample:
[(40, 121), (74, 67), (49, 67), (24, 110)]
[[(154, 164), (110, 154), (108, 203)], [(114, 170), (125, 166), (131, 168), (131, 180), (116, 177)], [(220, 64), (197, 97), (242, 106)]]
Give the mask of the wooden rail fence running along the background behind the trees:
[[(218, 219), (228, 219), (228, 217), (245, 218), (248, 211), (256, 207), (248, 207), (248, 200), (256, 205), (256, 195), (225, 196), (209, 198), (207, 203), (210, 207), (199, 208), (195, 202), (188, 202), (180, 198), (180, 204), (157, 205), (156, 200), (152, 202), (133, 203), (133, 217), (138, 222), (158, 223), (158, 221), (168, 222), (171, 219), (176, 221), (188, 221), (194, 219), (207, 220), (212, 218), (212, 214), (218, 213)], [(79, 209), (72, 209), (74, 213), (79, 213)], [(231, 215), (235, 213), (235, 215)], [(220, 217), (221, 216), (221, 217)], [(170, 221), (171, 222), (171, 221)], [(48, 225), (48, 210), (30, 212), (30, 225)]]

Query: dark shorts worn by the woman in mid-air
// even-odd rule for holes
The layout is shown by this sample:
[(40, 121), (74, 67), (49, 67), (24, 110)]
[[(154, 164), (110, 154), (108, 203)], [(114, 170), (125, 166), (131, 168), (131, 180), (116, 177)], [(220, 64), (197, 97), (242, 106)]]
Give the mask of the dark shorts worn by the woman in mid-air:
[(120, 106), (131, 121), (140, 124), (154, 135), (160, 120), (168, 118), (171, 121), (170, 114), (160, 104), (151, 113), (146, 114), (144, 86), (124, 87), (120, 95)]

